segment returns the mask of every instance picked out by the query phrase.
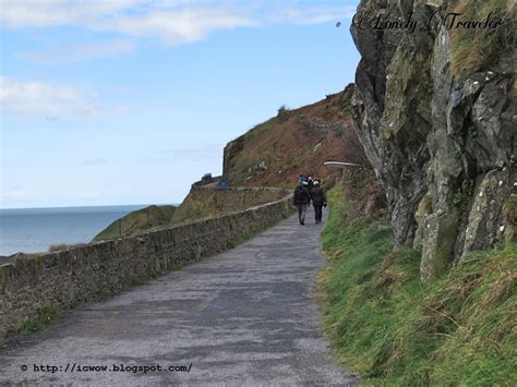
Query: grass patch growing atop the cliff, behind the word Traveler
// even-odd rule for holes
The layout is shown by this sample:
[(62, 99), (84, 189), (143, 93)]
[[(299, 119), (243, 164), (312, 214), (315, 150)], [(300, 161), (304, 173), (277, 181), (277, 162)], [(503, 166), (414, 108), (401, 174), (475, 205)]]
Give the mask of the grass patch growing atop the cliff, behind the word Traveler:
[(461, 21), (503, 20), (497, 28), (450, 29), (452, 71), (489, 70), (501, 58), (515, 60), (515, 0), (454, 0), (452, 10)]

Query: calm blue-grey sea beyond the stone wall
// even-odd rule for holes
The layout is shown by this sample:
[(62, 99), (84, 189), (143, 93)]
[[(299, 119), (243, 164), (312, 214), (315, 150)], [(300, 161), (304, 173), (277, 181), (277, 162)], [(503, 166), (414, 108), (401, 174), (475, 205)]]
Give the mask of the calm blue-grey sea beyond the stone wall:
[(87, 243), (124, 215), (147, 205), (0, 209), (0, 258)]

